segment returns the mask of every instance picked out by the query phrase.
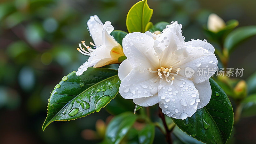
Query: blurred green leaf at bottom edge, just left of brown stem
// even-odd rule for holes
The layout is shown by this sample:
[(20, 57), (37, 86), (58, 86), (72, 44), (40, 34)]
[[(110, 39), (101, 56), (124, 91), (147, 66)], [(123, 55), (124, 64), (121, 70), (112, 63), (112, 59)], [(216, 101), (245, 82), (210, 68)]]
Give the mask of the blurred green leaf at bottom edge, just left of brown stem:
[(152, 144), (155, 138), (155, 125), (147, 124), (139, 131), (139, 143), (140, 144)]

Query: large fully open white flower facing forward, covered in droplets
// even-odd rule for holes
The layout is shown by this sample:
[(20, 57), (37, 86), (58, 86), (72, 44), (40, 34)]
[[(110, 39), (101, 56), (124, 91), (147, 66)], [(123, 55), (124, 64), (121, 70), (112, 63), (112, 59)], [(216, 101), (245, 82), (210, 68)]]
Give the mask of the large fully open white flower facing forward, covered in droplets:
[(164, 114), (177, 119), (191, 117), (208, 104), (209, 77), (218, 63), (211, 44), (193, 39), (185, 43), (181, 27), (171, 22), (156, 37), (150, 32), (128, 34), (123, 39), (127, 59), (118, 69), (123, 98), (144, 107), (159, 103)]

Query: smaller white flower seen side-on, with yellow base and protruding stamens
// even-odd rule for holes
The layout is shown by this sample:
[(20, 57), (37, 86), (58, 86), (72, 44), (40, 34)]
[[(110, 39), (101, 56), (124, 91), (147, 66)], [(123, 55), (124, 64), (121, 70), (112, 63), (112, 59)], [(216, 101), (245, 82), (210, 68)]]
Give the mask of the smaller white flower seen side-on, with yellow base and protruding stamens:
[(81, 47), (77, 50), (84, 55), (90, 56), (88, 61), (86, 61), (78, 71), (76, 75), (82, 75), (88, 67), (99, 68), (109, 64), (118, 63), (118, 58), (124, 56), (123, 48), (113, 36), (110, 36), (110, 33), (114, 30), (114, 27), (111, 25), (111, 22), (106, 21), (105, 24), (101, 22), (97, 15), (91, 16), (90, 20), (87, 21), (88, 29), (91, 33), (92, 42), (90, 44), (93, 46), (87, 46), (85, 41), (82, 41), (82, 44), (87, 51)]

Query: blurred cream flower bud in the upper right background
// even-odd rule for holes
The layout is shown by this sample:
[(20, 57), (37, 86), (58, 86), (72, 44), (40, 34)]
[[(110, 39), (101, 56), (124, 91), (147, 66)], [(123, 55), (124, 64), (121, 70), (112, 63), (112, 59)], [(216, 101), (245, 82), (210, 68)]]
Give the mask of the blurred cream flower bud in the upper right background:
[(226, 27), (226, 23), (217, 14), (212, 13), (208, 17), (207, 28), (210, 31), (218, 32)]

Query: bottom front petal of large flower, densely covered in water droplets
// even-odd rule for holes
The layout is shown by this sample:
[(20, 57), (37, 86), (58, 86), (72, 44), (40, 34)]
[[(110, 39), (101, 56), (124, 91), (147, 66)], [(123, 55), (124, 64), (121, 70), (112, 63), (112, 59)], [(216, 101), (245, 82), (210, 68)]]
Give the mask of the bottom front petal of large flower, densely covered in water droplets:
[(191, 80), (176, 76), (172, 85), (166, 81), (160, 84), (164, 87), (158, 90), (159, 106), (164, 114), (185, 119), (196, 112), (199, 95)]

